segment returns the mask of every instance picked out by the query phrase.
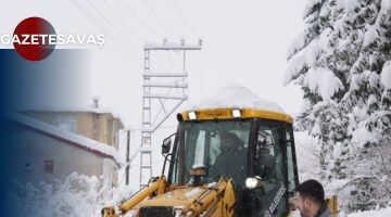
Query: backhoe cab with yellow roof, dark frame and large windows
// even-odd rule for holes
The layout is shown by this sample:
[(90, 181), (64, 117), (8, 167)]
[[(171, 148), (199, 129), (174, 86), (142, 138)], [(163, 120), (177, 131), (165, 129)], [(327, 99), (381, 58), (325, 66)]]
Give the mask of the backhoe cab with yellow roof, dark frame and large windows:
[(251, 108), (178, 114), (167, 187), (192, 184), (189, 169), (205, 168), (202, 184), (234, 180), (236, 216), (285, 217), (299, 183), (289, 115)]

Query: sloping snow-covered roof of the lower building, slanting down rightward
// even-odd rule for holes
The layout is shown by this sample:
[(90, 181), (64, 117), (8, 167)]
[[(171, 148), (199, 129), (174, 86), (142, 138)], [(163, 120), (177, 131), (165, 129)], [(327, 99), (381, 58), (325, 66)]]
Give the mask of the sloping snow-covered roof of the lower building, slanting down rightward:
[(79, 144), (81, 146), (85, 146), (85, 149), (83, 150), (93, 152), (101, 156), (112, 157), (117, 164), (125, 165), (125, 162), (121, 157), (119, 153), (109, 144), (101, 143), (96, 140), (76, 135), (74, 132), (63, 130), (61, 128), (54, 127), (52, 125), (46, 124), (43, 122), (30, 118), (28, 116), (15, 112), (8, 112), (5, 113), (4, 116), (7, 119), (11, 119), (24, 124), (28, 127), (37, 129), (38, 131), (52, 135), (71, 143)]

